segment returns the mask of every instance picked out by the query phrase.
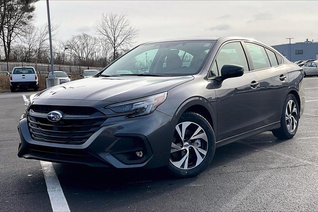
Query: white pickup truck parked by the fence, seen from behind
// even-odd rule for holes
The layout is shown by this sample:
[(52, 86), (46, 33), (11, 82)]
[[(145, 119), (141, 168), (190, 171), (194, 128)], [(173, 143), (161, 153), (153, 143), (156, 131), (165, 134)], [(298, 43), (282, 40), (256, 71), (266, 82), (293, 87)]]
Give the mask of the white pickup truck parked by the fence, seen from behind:
[(33, 67), (14, 67), (10, 76), (10, 90), (15, 92), (19, 89), (34, 89), (38, 91), (39, 83), (38, 76)]

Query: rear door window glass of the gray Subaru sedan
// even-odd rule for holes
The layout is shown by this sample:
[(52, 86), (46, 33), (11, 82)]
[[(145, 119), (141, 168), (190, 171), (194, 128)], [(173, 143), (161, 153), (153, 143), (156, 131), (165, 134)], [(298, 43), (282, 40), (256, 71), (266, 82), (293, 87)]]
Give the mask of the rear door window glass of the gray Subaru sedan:
[(245, 46), (251, 57), (254, 70), (271, 67), (264, 47), (254, 43), (245, 43)]

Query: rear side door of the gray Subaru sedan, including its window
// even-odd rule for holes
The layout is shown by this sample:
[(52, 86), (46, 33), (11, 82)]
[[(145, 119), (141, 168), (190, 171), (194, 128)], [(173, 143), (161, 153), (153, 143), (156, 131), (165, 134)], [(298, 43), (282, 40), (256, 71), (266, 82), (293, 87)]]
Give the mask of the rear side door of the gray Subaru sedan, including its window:
[[(288, 74), (276, 53), (257, 43), (244, 42), (249, 63), (259, 79), (260, 114), (262, 126), (280, 120), (284, 95), (288, 89)], [(279, 60), (281, 61), (281, 60)], [(281, 63), (281, 64), (279, 64)]]

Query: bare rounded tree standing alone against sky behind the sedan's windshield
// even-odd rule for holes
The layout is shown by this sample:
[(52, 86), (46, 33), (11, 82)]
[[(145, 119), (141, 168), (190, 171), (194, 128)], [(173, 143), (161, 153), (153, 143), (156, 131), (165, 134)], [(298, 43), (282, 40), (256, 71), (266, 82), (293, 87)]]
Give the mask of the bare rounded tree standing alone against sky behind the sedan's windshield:
[(124, 14), (103, 14), (102, 19), (95, 24), (95, 30), (103, 35), (105, 41), (112, 47), (113, 60), (118, 55), (116, 52), (131, 47), (138, 35), (138, 30), (130, 25)]

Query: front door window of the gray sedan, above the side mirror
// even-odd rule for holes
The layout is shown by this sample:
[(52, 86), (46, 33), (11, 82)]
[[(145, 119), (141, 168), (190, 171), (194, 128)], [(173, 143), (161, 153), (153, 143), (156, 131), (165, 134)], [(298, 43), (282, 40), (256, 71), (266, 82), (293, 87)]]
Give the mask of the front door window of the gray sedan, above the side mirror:
[(216, 61), (220, 70), (222, 70), (224, 65), (233, 64), (243, 66), (245, 72), (249, 71), (245, 53), (240, 42), (225, 44), (220, 50)]

